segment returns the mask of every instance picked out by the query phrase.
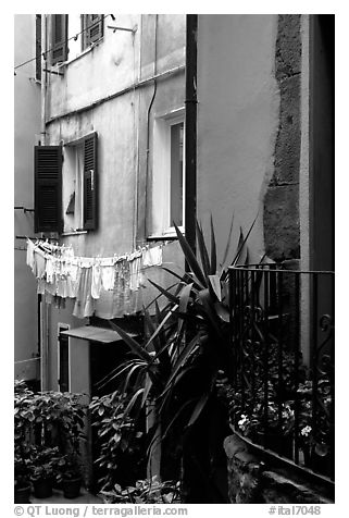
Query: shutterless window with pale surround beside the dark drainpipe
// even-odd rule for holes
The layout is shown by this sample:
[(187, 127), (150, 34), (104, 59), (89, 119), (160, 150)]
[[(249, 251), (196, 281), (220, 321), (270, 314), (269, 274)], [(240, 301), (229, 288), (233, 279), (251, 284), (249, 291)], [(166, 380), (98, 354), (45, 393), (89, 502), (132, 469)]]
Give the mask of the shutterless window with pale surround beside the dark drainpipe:
[(158, 118), (153, 135), (152, 233), (174, 233), (184, 225), (184, 110)]

